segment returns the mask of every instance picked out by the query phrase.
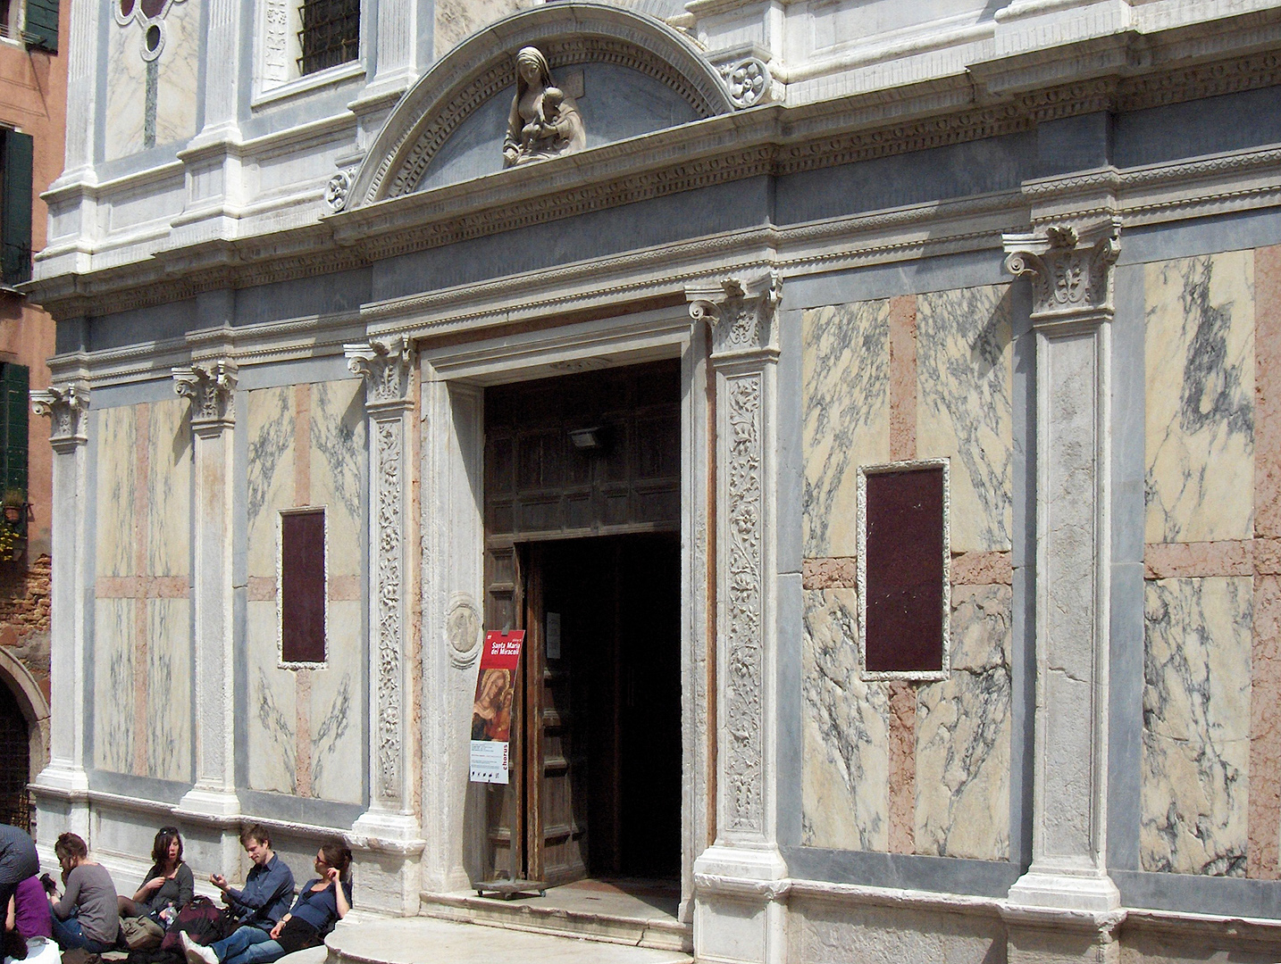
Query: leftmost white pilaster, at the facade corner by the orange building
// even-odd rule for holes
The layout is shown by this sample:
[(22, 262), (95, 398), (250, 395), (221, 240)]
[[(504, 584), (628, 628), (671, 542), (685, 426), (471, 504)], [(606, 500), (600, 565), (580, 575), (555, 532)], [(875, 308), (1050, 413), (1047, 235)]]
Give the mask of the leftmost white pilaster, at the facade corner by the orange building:
[[(88, 387), (65, 382), (31, 393), (36, 415), (47, 415), (54, 447), (50, 550), (49, 764), (36, 778), (41, 837), (60, 830), (88, 831), (85, 773), (85, 524), (87, 502)], [(46, 807), (46, 796), (54, 799)]]

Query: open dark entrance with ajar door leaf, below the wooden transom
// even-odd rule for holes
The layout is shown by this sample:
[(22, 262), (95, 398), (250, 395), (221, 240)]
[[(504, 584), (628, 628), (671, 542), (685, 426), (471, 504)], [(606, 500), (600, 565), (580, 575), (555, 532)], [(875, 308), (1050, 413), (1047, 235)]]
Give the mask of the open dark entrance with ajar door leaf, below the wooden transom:
[(680, 872), (680, 543), (525, 547), (525, 871)]

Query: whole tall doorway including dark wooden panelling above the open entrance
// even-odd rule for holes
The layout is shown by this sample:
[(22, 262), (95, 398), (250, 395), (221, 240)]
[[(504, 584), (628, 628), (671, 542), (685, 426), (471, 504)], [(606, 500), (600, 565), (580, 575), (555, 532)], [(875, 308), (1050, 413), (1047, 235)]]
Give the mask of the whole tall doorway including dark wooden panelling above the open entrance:
[(675, 361), (485, 390), (485, 626), (524, 629), (485, 873), (681, 871)]

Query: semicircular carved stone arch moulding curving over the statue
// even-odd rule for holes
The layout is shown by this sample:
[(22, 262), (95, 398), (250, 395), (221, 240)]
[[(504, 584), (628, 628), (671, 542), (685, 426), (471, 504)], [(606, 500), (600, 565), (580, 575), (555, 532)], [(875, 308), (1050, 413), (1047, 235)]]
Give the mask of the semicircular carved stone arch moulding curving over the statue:
[(370, 145), (347, 209), (415, 191), (459, 125), (515, 86), (515, 55), (524, 46), (537, 46), (553, 70), (603, 63), (647, 74), (698, 118), (734, 110), (716, 69), (693, 41), (661, 20), (598, 3), (544, 4), (462, 41), (405, 93)]

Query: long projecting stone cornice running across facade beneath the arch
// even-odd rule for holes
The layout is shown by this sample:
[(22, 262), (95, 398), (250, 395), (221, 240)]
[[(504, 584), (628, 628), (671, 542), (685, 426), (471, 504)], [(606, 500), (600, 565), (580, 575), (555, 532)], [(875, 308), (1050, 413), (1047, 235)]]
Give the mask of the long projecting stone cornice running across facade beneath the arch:
[[(1152, 37), (1144, 41), (1145, 49), (1154, 45)], [(74, 317), (179, 301), (204, 291), (332, 274), (711, 184), (975, 141), (1081, 113), (1139, 109), (1277, 84), (1281, 50), (1171, 65), (1144, 76), (1129, 76), (1129, 69), (999, 99), (966, 77), (954, 77), (797, 108), (757, 108), (389, 198), (301, 228), (163, 252), (24, 287), (55, 317)], [(1221, 170), (1234, 163), (1222, 161)], [(1261, 161), (1255, 157), (1254, 163)], [(1187, 174), (1208, 178), (1216, 170), (1189, 168)], [(1145, 169), (1139, 177), (1150, 182), (1163, 175)], [(1121, 172), (1120, 178), (1123, 195), (1131, 174)]]

